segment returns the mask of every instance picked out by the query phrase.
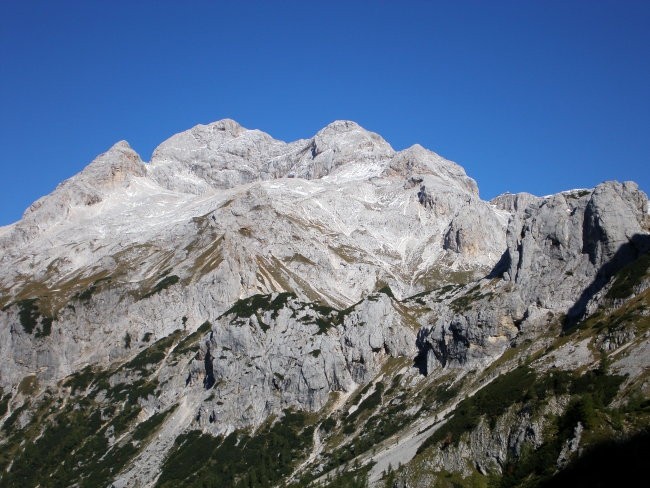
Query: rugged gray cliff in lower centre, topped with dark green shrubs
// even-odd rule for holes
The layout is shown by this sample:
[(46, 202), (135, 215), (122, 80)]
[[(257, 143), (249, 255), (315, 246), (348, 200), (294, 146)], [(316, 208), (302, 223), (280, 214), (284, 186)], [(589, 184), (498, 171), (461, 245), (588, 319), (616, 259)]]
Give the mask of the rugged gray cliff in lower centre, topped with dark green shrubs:
[(172, 385), (169, 397), (176, 403), (187, 388), (211, 390), (196, 421), (224, 434), (287, 408), (319, 410), (330, 393), (367, 383), (387, 357), (415, 352), (415, 331), (385, 294), (345, 312), (288, 294), (256, 295), (214, 322), (178, 375), (184, 387)]

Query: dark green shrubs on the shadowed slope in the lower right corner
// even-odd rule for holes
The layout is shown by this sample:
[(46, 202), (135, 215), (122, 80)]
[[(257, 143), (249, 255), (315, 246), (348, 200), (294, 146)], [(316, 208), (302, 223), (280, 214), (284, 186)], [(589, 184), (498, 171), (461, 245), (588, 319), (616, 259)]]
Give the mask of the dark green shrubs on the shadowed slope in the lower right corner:
[[(494, 428), (496, 420), (509, 409), (535, 416), (543, 412), (548, 399), (568, 396), (569, 403), (564, 412), (547, 417), (541, 446), (536, 448), (530, 443), (524, 444), (519, 456), (511, 454), (506, 460), (501, 476), (494, 474), (471, 480), (472, 484), (500, 488), (539, 486), (552, 479), (560, 451), (573, 437), (578, 423), (585, 428), (583, 442), (590, 445), (599, 439), (620, 435), (623, 426), (630, 425), (630, 419), (638, 418), (639, 412), (647, 410), (643, 415), (647, 415), (646, 422), (650, 420), (650, 401), (642, 396), (633, 397), (621, 409), (609, 407), (624, 377), (610, 374), (608, 365), (607, 356), (603, 356), (598, 368), (583, 375), (558, 370), (538, 375), (528, 366), (520, 366), (496, 378), (474, 396), (462, 400), (453, 416), (420, 446), (417, 456), (426, 455), (432, 448), (444, 450), (456, 445), (482, 420)], [(444, 387), (442, 385), (436, 391), (442, 393)], [(435, 486), (468, 486), (470, 483), (470, 480), (456, 478), (453, 473), (438, 473)]]

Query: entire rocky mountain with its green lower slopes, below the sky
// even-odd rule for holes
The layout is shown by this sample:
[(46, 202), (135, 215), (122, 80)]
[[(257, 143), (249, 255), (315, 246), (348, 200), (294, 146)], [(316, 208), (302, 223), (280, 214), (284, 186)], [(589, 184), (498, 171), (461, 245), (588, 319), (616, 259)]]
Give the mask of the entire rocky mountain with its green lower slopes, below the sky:
[(633, 182), (488, 202), (350, 121), (118, 142), (0, 228), (0, 486), (621, 484), (649, 288)]

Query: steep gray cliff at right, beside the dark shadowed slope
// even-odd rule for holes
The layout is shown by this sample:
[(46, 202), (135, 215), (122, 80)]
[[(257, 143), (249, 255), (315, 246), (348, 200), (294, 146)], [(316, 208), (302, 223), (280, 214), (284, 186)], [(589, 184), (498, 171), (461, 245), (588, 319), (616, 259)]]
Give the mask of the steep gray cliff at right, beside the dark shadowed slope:
[[(429, 371), (485, 364), (522, 333), (563, 315), (577, 320), (618, 269), (648, 250), (647, 197), (632, 183), (542, 199), (508, 195), (493, 203), (514, 211), (507, 251), (493, 280), (430, 297), (433, 320), (418, 334)], [(445, 244), (455, 249), (463, 234), (453, 226)]]

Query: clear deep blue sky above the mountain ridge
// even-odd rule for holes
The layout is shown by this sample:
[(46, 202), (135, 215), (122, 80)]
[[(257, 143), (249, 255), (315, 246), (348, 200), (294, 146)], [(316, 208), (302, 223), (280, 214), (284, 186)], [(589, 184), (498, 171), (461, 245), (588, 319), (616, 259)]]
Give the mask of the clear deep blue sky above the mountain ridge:
[(0, 225), (126, 139), (352, 119), (481, 196), (650, 190), (650, 1), (0, 2)]

